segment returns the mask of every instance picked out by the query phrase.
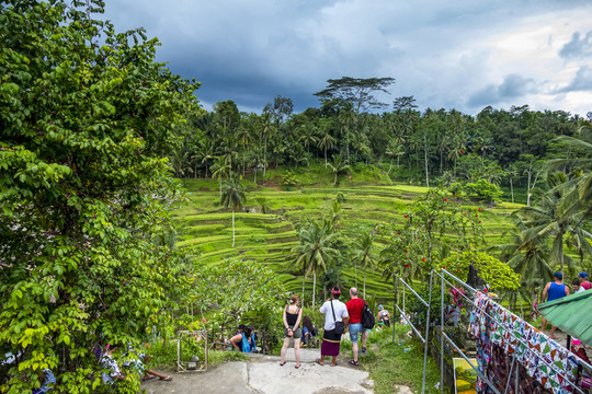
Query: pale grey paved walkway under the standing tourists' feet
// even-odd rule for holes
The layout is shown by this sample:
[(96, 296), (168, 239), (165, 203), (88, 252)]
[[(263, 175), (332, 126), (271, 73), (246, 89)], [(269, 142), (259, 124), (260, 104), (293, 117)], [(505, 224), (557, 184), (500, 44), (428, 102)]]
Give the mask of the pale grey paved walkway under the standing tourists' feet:
[[(280, 367), (280, 357), (252, 355), (248, 362), (234, 361), (210, 368), (206, 372), (174, 373), (171, 382), (151, 380), (141, 389), (148, 394), (372, 394), (374, 382), (368, 373), (341, 364), (325, 367), (315, 363), (319, 349), (300, 349), (299, 369), (294, 349), (289, 348), (286, 364)], [(338, 361), (339, 362), (339, 361)]]

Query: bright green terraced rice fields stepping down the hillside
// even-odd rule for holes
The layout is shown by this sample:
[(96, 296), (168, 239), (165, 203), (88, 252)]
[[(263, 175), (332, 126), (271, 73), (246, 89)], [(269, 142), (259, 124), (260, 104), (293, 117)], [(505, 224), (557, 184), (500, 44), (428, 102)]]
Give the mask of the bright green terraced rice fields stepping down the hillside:
[[(287, 289), (301, 291), (301, 276), (291, 263), (291, 253), (298, 240), (295, 227), (306, 217), (320, 217), (328, 212), (338, 193), (342, 195), (341, 232), (355, 237), (369, 232), (379, 223), (402, 224), (402, 212), (413, 199), (425, 193), (424, 187), (394, 186), (308, 186), (286, 192), (247, 183), (249, 193), (244, 211), (236, 212), (236, 247), (232, 245), (231, 212), (218, 206), (219, 189), (216, 181), (186, 179), (190, 202), (175, 212), (178, 218), (178, 246), (185, 250), (196, 264), (220, 264), (226, 257), (257, 259), (272, 267)], [(517, 205), (501, 204), (487, 208), (482, 215), (486, 239), (489, 244), (499, 241), (511, 225), (509, 215)], [(380, 234), (378, 248), (388, 242)], [(354, 283), (354, 268), (344, 271), (348, 285)], [(358, 287), (362, 287), (358, 273)], [(307, 292), (312, 280), (307, 279)], [(368, 273), (367, 293), (378, 299), (389, 299), (392, 285), (386, 283), (380, 273)], [(317, 287), (317, 290), (319, 287)]]

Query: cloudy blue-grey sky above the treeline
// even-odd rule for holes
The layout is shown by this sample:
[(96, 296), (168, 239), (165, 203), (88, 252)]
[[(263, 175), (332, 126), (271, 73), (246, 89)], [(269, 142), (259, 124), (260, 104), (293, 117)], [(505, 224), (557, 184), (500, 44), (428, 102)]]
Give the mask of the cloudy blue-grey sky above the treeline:
[(300, 112), (348, 76), (392, 77), (384, 101), (421, 109), (592, 111), (590, 0), (106, 0), (105, 18), (158, 37), (158, 60), (202, 82), (208, 109), (282, 95)]

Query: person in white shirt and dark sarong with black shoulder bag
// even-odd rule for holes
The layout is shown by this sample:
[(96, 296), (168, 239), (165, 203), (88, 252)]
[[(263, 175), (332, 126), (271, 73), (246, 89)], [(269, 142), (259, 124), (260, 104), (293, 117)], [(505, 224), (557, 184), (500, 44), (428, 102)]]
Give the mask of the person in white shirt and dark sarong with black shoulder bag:
[(348, 306), (339, 297), (341, 290), (334, 287), (331, 290), (331, 298), (327, 300), (320, 308), (320, 313), (325, 314), (325, 333), (322, 335), (321, 357), (316, 361), (319, 366), (325, 366), (325, 357), (331, 356), (331, 367), (337, 366), (337, 357), (339, 356), (339, 347), (341, 344), (341, 334), (335, 332), (335, 322), (343, 322), (348, 326), (349, 314)]

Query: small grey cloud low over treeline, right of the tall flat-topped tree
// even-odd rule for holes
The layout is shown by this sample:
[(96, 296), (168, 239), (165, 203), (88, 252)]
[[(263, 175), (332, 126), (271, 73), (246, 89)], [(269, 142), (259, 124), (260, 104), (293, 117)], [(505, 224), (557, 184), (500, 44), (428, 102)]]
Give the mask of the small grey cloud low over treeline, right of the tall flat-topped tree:
[(537, 85), (534, 79), (510, 74), (505, 77), (502, 83), (498, 85), (489, 84), (474, 93), (467, 104), (471, 107), (496, 105), (512, 102), (515, 99), (536, 93), (536, 91)]

